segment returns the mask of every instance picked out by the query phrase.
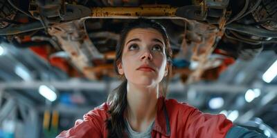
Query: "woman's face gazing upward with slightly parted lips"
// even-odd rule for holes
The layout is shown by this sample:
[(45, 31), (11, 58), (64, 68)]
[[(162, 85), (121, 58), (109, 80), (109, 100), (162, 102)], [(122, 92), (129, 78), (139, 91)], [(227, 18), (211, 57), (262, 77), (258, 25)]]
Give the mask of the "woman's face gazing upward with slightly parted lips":
[(118, 72), (129, 83), (157, 85), (168, 73), (163, 36), (152, 28), (130, 30), (125, 39)]

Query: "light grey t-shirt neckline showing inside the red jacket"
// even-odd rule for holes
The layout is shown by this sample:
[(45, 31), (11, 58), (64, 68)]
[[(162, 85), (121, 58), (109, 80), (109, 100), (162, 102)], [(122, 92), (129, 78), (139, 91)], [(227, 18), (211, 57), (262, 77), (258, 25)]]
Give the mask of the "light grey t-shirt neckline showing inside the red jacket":
[(150, 124), (150, 126), (148, 126), (148, 128), (144, 132), (136, 132), (132, 130), (127, 119), (125, 119), (125, 126), (125, 132), (127, 132), (129, 138), (151, 138), (151, 132), (154, 126), (154, 121), (152, 122), (152, 124)]

